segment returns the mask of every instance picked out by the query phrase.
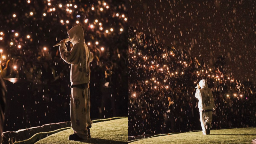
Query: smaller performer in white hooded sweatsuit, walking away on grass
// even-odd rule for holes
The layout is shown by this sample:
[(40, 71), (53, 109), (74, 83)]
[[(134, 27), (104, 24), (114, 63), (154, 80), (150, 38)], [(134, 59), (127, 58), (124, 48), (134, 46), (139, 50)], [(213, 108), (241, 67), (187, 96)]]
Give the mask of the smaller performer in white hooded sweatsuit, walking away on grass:
[[(201, 87), (201, 89), (200, 89)], [(212, 127), (212, 109), (215, 109), (214, 99), (212, 96), (212, 90), (208, 88), (207, 81), (202, 79), (197, 84), (197, 90), (195, 94), (199, 100), (198, 108), (200, 112), (200, 121), (203, 129), (203, 134), (210, 134), (210, 128)]]

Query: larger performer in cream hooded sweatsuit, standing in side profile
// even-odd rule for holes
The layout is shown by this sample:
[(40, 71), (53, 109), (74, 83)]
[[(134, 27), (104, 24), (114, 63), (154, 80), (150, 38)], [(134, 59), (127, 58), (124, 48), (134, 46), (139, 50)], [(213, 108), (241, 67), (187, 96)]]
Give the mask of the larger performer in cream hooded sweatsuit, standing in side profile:
[(73, 47), (67, 51), (65, 40), (60, 44), (61, 58), (71, 64), (71, 100), (70, 117), (74, 134), (69, 140), (87, 140), (90, 136), (92, 121), (90, 118), (90, 62), (93, 54), (88, 50), (84, 40), (84, 30), (80, 25), (68, 31), (68, 37)]

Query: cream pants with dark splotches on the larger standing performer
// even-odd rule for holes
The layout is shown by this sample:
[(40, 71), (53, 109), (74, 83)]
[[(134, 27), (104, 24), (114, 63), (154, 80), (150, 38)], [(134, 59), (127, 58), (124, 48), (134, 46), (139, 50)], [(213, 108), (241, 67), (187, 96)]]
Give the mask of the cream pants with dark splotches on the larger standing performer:
[(80, 138), (87, 140), (87, 128), (92, 124), (90, 117), (90, 90), (86, 88), (71, 88), (70, 98), (71, 126)]

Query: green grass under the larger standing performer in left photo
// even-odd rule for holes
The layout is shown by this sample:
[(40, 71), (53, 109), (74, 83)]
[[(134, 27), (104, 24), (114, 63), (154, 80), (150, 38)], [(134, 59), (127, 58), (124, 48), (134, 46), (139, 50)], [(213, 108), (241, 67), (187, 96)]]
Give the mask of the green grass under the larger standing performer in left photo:
[(74, 133), (70, 128), (39, 140), (36, 144), (128, 143), (128, 118), (94, 123), (90, 131), (92, 138), (89, 140), (68, 140), (68, 136)]

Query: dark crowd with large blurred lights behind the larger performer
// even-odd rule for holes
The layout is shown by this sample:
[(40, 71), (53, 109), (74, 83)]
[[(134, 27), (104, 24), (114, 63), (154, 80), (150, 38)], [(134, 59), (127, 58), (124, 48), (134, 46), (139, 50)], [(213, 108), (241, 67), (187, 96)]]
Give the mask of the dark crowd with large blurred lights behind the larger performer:
[[(127, 115), (124, 1), (3, 3), (0, 20), (6, 27), (0, 28), (1, 76), (7, 83), (10, 78), (20, 80), (9, 85), (4, 131), (70, 120), (70, 65), (60, 58), (59, 47), (52, 45), (67, 38), (67, 31), (77, 24), (83, 27), (85, 43), (94, 54), (91, 118)], [(67, 44), (70, 51), (72, 44)], [(28, 86), (20, 92), (10, 89), (24, 84)], [(20, 102), (23, 99), (25, 104)]]

